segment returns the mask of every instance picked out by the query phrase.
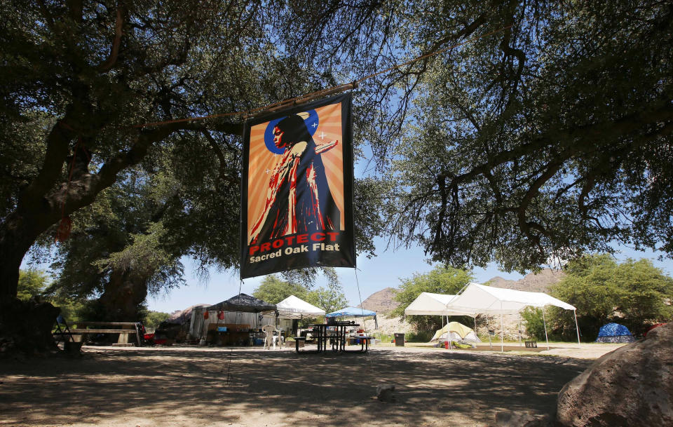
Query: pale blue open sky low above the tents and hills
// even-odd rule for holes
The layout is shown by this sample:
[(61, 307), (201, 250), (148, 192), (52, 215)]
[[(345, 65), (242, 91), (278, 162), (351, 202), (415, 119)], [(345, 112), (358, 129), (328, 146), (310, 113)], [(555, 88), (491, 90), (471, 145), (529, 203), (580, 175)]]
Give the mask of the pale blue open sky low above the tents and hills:
[[(357, 281), (353, 269), (337, 269), (346, 298), (352, 306), (360, 304), (357, 283), (360, 283), (360, 294), (362, 300), (365, 300), (369, 295), (386, 287), (397, 287), (400, 284), (400, 278), (410, 278), (414, 273), (426, 273), (432, 269), (432, 266), (425, 262), (426, 258), (420, 248), (381, 252), (383, 248), (386, 248), (384, 240), (377, 240), (376, 248), (381, 248), (377, 252), (379, 253), (378, 257), (373, 259), (358, 257)], [(617, 255), (619, 260), (627, 257), (648, 258), (664, 273), (669, 276), (673, 273), (673, 260), (665, 259), (660, 262), (656, 259), (658, 254), (653, 252), (637, 252), (628, 248), (621, 248), (621, 251)], [(148, 297), (147, 304), (150, 310), (171, 313), (175, 310), (186, 309), (186, 307), (194, 304), (216, 304), (238, 294), (239, 285), (241, 292), (252, 294), (264, 278), (264, 276), (248, 278), (241, 285), (240, 280), (238, 280), (238, 271), (231, 270), (217, 273), (213, 270), (210, 272), (210, 278), (203, 282), (194, 276), (191, 261), (184, 259), (183, 262), (186, 267), (184, 278), (187, 285), (172, 290), (169, 294)], [(475, 269), (473, 274), (478, 283), (484, 283), (494, 276), (512, 280), (523, 277), (518, 273), (498, 271), (495, 265), (489, 266), (488, 269)], [(319, 280), (317, 285), (324, 285), (324, 282)]]

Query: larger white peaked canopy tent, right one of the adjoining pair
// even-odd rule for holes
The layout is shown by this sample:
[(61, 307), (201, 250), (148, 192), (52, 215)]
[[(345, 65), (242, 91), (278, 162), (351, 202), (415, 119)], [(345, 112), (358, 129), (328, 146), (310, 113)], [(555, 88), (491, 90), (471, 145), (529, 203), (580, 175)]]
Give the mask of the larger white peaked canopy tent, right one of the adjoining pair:
[[(451, 299), (447, 304), (447, 310), (463, 313), (487, 313), (500, 314), (501, 326), (503, 325), (503, 315), (516, 314), (527, 306), (545, 307), (557, 306), (562, 309), (572, 310), (575, 314), (575, 326), (577, 327), (577, 344), (580, 345), (580, 332), (577, 325), (577, 313), (575, 307), (570, 304), (554, 298), (543, 292), (526, 292), (522, 290), (503, 289), (502, 287), (484, 286), (478, 283), (470, 283), (461, 294)], [(545, 339), (547, 348), (549, 348), (549, 339), (547, 338), (547, 320), (543, 310), (543, 322), (545, 325)], [(503, 350), (504, 330), (501, 327), (501, 351)]]

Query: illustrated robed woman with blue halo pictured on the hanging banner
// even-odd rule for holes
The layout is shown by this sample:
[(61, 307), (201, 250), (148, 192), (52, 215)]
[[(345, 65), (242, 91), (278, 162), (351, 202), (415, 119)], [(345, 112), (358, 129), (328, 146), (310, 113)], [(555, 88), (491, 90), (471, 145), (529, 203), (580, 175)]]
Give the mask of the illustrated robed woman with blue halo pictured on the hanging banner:
[(269, 179), (264, 210), (252, 226), (251, 245), (287, 234), (339, 227), (341, 212), (329, 191), (320, 157), (337, 143), (316, 145), (299, 115), (278, 122), (273, 128), (273, 144), (285, 151)]

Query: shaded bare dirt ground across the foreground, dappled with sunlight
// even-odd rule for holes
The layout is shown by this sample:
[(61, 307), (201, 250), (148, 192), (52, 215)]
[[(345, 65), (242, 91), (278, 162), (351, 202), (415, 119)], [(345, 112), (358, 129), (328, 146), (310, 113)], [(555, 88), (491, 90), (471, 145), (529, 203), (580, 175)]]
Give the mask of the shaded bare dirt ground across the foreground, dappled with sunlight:
[[(81, 356), (0, 360), (0, 427), (489, 426), (498, 411), (553, 412), (562, 386), (619, 345), (582, 346), (85, 346)], [(376, 400), (380, 384), (395, 386), (396, 402)]]

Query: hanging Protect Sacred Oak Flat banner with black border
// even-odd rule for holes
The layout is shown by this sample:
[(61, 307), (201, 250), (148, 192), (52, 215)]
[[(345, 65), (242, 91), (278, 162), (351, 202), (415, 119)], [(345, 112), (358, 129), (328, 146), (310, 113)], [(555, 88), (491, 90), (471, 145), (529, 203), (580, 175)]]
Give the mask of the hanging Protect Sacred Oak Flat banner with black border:
[(355, 267), (351, 122), (346, 94), (246, 123), (240, 278)]

